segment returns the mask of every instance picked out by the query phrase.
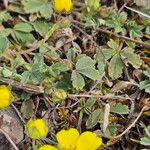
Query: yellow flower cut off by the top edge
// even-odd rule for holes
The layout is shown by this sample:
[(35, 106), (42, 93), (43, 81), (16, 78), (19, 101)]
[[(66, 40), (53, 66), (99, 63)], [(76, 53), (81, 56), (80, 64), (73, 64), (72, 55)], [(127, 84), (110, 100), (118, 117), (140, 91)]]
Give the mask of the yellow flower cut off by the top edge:
[(72, 9), (72, 0), (53, 0), (54, 1), (54, 10), (56, 12), (65, 12), (69, 13)]

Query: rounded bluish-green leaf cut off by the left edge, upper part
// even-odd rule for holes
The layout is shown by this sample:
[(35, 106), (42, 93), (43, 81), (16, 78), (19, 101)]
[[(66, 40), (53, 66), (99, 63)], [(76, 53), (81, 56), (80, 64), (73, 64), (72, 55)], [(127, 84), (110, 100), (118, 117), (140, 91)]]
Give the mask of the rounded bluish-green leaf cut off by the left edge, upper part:
[(4, 53), (4, 51), (9, 47), (9, 41), (6, 37), (0, 36), (0, 54)]

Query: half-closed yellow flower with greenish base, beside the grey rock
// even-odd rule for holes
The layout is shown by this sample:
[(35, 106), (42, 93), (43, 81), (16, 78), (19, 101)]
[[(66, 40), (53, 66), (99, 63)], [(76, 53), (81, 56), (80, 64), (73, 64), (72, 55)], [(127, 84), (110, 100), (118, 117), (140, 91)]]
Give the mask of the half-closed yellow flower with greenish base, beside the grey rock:
[(41, 139), (48, 134), (48, 127), (44, 119), (29, 120), (26, 130), (29, 137), (33, 139)]

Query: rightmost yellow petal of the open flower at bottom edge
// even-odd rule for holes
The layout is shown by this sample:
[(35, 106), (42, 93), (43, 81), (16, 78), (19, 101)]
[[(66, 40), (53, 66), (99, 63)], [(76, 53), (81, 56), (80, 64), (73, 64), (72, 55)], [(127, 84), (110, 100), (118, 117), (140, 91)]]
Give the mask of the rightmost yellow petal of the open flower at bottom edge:
[(93, 132), (83, 132), (78, 141), (76, 150), (96, 150), (103, 145), (102, 139)]

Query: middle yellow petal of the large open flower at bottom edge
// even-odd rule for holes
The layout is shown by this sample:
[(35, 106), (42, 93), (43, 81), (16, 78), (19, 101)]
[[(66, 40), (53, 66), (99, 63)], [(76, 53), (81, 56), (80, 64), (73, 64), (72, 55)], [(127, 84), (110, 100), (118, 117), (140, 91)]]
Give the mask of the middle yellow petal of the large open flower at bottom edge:
[(79, 132), (74, 128), (61, 130), (56, 134), (56, 138), (63, 150), (74, 150), (79, 138)]

